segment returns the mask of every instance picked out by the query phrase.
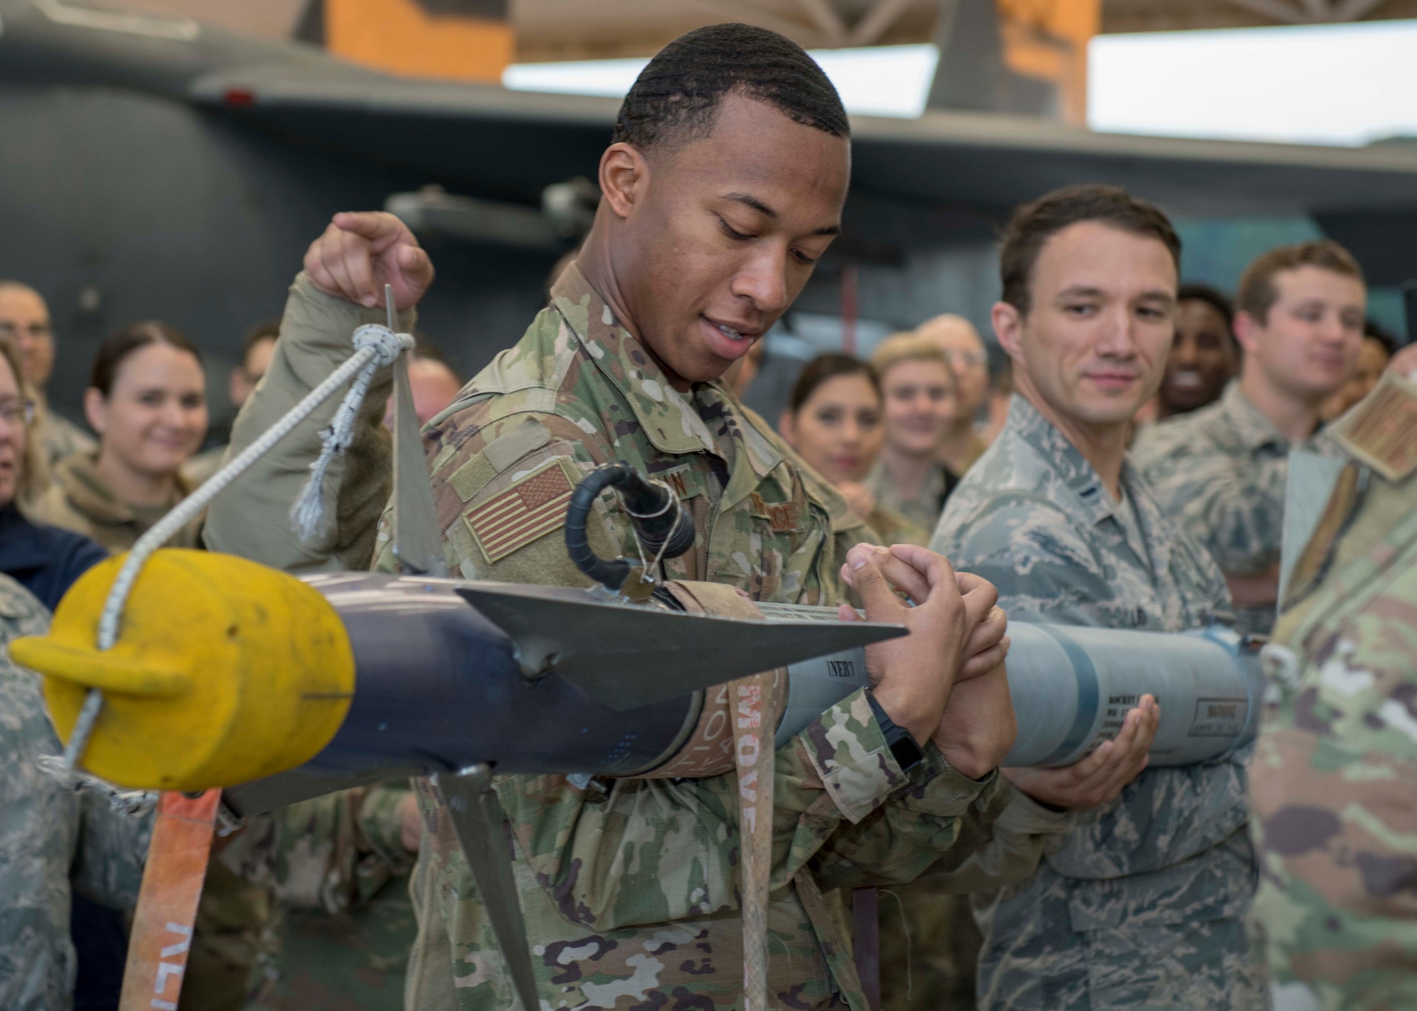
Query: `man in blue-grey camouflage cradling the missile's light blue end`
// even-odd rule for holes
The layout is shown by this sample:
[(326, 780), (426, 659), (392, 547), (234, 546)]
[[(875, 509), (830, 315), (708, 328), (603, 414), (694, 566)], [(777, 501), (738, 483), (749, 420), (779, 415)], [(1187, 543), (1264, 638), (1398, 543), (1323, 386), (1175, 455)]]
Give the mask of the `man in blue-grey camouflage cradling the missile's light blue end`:
[[(1170, 345), (1179, 252), (1161, 211), (1112, 187), (1061, 190), (1015, 215), (993, 314), (1017, 392), (932, 542), (993, 581), (1010, 620), (1182, 632), (1229, 610), (1214, 562), (1125, 462), (1128, 422)], [(1043, 831), (1033, 799), (1087, 807), (1073, 779), (1144, 738), (1121, 729), (1077, 773), (1006, 770), (1013, 804)], [(1244, 933), (1243, 760), (1146, 769), (1122, 787), (1138, 763), (1100, 792), (1119, 789), (1115, 801), (1066, 817), (1030, 879), (973, 896), (981, 1007), (1263, 1005)]]

